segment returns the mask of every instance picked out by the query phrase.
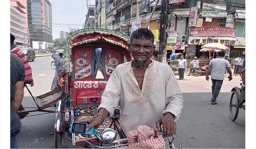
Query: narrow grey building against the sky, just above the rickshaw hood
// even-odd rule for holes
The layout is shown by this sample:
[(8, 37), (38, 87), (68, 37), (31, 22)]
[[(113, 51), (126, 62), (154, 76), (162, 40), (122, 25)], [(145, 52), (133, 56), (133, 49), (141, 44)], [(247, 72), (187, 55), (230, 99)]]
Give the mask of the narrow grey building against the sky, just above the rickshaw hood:
[(88, 5), (88, 12), (86, 14), (86, 19), (84, 23), (84, 28), (94, 28), (95, 27), (95, 5)]

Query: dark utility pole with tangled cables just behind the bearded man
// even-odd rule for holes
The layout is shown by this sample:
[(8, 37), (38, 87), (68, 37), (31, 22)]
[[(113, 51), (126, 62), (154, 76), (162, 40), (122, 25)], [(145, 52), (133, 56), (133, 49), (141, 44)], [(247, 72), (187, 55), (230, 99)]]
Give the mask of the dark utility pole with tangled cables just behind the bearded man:
[(160, 12), (160, 29), (159, 29), (159, 57), (158, 61), (166, 63), (166, 43), (167, 43), (167, 33), (166, 28), (169, 20), (169, 0), (161, 0), (162, 7)]

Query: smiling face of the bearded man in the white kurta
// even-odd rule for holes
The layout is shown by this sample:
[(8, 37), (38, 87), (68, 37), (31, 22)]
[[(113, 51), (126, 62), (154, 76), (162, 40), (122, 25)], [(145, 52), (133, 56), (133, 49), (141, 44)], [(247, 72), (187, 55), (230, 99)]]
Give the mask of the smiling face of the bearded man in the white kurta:
[(143, 62), (152, 57), (154, 49), (152, 40), (147, 39), (134, 39), (130, 47), (134, 59)]

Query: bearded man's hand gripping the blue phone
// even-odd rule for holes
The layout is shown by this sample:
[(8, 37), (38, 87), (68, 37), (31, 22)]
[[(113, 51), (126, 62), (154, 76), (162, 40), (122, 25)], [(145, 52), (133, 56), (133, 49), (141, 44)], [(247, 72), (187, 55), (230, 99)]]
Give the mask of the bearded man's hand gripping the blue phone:
[(102, 115), (98, 115), (96, 118), (86, 118), (82, 120), (78, 120), (80, 123), (90, 123), (90, 125), (85, 129), (85, 131), (89, 131), (91, 128), (99, 127), (104, 121)]

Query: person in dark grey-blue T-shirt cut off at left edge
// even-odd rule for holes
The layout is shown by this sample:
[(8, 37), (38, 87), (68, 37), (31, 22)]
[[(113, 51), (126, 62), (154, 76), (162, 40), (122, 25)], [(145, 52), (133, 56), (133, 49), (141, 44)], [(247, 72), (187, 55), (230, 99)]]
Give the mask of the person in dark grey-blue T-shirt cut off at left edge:
[(20, 108), (23, 95), (24, 95), (24, 79), (25, 79), (25, 67), (17, 57), (17, 55), (11, 53), (11, 77), (10, 77), (10, 97), (11, 97), (11, 107), (10, 107), (10, 147), (11, 149), (17, 149), (16, 136), (20, 132), (21, 122), (17, 115), (17, 111)]

